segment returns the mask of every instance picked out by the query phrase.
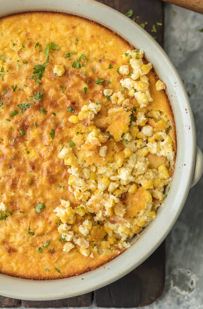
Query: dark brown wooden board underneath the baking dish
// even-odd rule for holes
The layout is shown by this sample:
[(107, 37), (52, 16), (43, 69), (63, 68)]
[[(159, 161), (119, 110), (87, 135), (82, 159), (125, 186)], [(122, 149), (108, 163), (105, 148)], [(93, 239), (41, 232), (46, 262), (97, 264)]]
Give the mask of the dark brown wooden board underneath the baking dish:
[[(160, 0), (99, 0), (117, 11), (132, 9), (138, 24), (146, 23), (145, 30), (164, 45), (164, 4)], [(162, 23), (157, 26), (156, 22)], [(155, 25), (157, 32), (152, 32)], [(135, 33), (136, 35), (136, 33)], [(118, 269), (119, 271), (119, 269)], [(89, 307), (92, 299), (97, 307), (142, 307), (157, 299), (165, 282), (165, 242), (139, 267), (118, 281), (93, 293), (54, 301), (25, 301), (0, 296), (0, 307), (26, 308)]]

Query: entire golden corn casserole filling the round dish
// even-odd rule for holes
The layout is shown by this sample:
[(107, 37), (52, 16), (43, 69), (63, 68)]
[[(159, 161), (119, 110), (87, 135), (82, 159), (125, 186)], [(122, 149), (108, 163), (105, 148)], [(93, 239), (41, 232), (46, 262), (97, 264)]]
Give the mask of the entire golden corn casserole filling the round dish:
[(121, 254), (155, 217), (176, 155), (152, 64), (80, 17), (0, 19), (0, 271), (56, 279)]

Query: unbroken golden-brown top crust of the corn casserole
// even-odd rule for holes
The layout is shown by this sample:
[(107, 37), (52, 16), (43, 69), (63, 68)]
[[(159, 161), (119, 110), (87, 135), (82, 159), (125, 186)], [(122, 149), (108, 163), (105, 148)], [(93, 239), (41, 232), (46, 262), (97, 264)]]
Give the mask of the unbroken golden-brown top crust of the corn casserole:
[[(16, 24), (20, 25), (19, 28)], [(59, 242), (57, 232), (58, 217), (53, 210), (60, 204), (60, 197), (69, 199), (72, 205), (78, 205), (78, 202), (73, 193), (67, 193), (69, 174), (57, 154), (59, 145), (61, 147), (64, 141), (70, 141), (80, 129), (80, 125), (75, 129), (68, 122), (70, 113), (67, 106), (73, 108), (73, 114), (78, 114), (90, 99), (102, 100), (100, 115), (95, 116), (95, 124), (105, 128), (103, 119), (108, 115), (105, 105), (109, 101), (103, 98), (102, 91), (108, 80), (114, 81), (111, 88), (118, 91), (121, 77), (116, 69), (125, 64), (120, 55), (132, 46), (95, 22), (62, 13), (29, 12), (10, 15), (0, 19), (0, 32), (4, 32), (0, 42), (0, 55), (5, 55), (6, 61), (0, 60), (0, 67), (5, 70), (4, 80), (0, 84), (0, 100), (4, 106), (0, 110), (0, 202), (4, 201), (7, 209), (13, 211), (6, 221), (0, 221), (0, 271), (35, 280), (51, 280), (85, 273), (106, 264), (123, 250), (96, 255), (94, 259), (82, 256), (77, 246), (68, 255), (63, 252), (63, 243)], [(78, 37), (78, 42), (75, 37)], [(29, 39), (27, 43), (26, 39)], [(34, 65), (45, 62), (44, 48), (50, 41), (59, 45), (60, 49), (50, 50), (49, 65), (44, 70), (38, 87), (29, 77), (33, 75)], [(39, 45), (35, 47), (37, 42)], [(84, 53), (89, 60), (85, 64), (85, 75), (81, 70), (73, 69), (72, 62), (64, 57), (65, 53), (76, 50), (79, 55)], [(73, 54), (71, 57), (76, 61), (78, 56)], [(26, 64), (26, 61), (29, 62)], [(109, 63), (113, 64), (115, 70), (107, 70)], [(53, 76), (55, 64), (64, 66), (63, 76)], [(94, 68), (96, 70), (93, 71)], [(165, 112), (173, 121), (165, 92), (155, 91), (155, 73), (150, 72), (148, 77), (155, 108)], [(103, 86), (95, 85), (99, 78), (105, 79)], [(12, 85), (17, 85), (21, 90), (16, 88), (13, 91)], [(64, 93), (60, 85), (66, 87)], [(86, 94), (83, 91), (85, 86)], [(30, 97), (38, 90), (45, 94), (41, 101)], [(28, 102), (34, 100), (35, 104), (21, 115), (17, 104), (26, 103), (26, 99)], [(154, 109), (154, 105), (149, 104), (147, 109), (152, 107)], [(47, 113), (42, 114), (40, 108)], [(18, 110), (18, 114), (10, 117), (13, 110)], [(52, 113), (56, 113), (56, 116)], [(53, 140), (49, 135), (52, 129), (55, 130)], [(109, 157), (111, 155), (110, 152)], [(39, 214), (33, 207), (38, 203), (46, 205)], [(34, 235), (27, 234), (29, 226)], [(43, 248), (47, 240), (50, 240), (50, 244)], [(43, 253), (37, 252), (39, 247)], [(49, 251), (52, 248), (54, 253)]]

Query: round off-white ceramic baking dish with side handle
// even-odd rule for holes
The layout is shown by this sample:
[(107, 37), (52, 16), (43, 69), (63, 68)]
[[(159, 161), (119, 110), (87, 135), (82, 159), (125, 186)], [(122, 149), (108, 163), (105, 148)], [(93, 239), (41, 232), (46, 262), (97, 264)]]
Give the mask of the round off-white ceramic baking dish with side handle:
[(108, 266), (80, 276), (32, 281), (0, 274), (0, 295), (7, 297), (51, 300), (84, 294), (119, 279), (141, 264), (160, 245), (176, 222), (190, 187), (199, 180), (203, 171), (203, 155), (196, 148), (193, 113), (183, 82), (164, 50), (146, 31), (121, 13), (93, 0), (0, 0), (0, 8), (0, 16), (23, 11), (60, 11), (97, 21), (136, 48), (143, 49), (147, 60), (152, 62), (156, 73), (167, 85), (176, 122), (176, 167), (168, 197), (141, 237), (134, 237), (131, 242), (137, 241), (132, 247), (109, 262)]

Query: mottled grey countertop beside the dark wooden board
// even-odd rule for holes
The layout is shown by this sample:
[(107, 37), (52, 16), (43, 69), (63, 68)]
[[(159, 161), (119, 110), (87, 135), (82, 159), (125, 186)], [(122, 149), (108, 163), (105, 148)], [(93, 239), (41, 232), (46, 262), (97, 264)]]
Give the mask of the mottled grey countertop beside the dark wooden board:
[[(203, 150), (203, 15), (165, 4), (165, 50), (190, 96), (197, 145)], [(143, 309), (203, 309), (203, 177), (166, 239), (166, 284)], [(23, 307), (22, 307), (23, 308)], [(92, 305), (91, 309), (95, 309)], [(89, 308), (89, 309), (90, 309)]]

